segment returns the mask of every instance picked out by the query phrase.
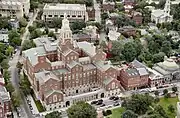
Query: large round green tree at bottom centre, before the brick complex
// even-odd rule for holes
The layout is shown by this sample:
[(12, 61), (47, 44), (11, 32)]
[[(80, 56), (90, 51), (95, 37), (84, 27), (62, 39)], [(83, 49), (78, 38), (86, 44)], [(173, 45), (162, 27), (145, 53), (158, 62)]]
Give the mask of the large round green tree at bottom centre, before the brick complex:
[[(82, 112), (83, 110), (83, 112)], [(97, 112), (96, 109), (88, 103), (83, 101), (73, 104), (67, 110), (69, 118), (96, 118)]]

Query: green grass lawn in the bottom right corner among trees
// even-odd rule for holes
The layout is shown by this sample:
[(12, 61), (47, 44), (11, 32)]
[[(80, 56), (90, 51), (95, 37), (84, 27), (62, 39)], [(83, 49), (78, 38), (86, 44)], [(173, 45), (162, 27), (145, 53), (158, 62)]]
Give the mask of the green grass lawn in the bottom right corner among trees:
[(172, 104), (174, 106), (174, 108), (176, 109), (177, 108), (177, 102), (178, 102), (177, 97), (175, 97), (175, 98), (161, 98), (159, 105), (161, 105), (165, 109), (165, 111), (167, 112), (167, 114), (170, 118), (174, 118), (176, 116), (176, 111), (175, 111), (175, 113), (169, 112), (168, 106)]

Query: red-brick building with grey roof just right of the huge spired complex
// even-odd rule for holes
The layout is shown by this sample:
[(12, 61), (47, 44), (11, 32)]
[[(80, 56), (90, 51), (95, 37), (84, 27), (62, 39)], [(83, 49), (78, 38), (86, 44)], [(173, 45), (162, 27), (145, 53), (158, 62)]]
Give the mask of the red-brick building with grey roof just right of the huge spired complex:
[(126, 90), (148, 86), (149, 73), (140, 62), (134, 60), (127, 68), (120, 70), (119, 80)]

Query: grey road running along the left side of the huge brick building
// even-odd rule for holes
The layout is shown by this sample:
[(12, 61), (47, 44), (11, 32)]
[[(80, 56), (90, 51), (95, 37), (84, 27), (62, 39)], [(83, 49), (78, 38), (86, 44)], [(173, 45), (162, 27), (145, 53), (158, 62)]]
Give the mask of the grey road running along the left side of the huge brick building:
[[(37, 13), (38, 13), (38, 10), (34, 13), (33, 17), (30, 18), (30, 21), (28, 22), (28, 25), (25, 28), (25, 33), (21, 37), (22, 38), (21, 45), (23, 44), (24, 40), (28, 39), (27, 38), (29, 34), (28, 27), (33, 24), (34, 20), (37, 17)], [(19, 91), (19, 76), (18, 76), (18, 70), (16, 68), (16, 64), (19, 61), (19, 57), (20, 57), (20, 50), (18, 50), (16, 54), (14, 54), (13, 59), (9, 61), (9, 65), (10, 65), (9, 71), (11, 73), (11, 82), (16, 91)], [(24, 94), (21, 93), (20, 95), (22, 98), (22, 104), (20, 106), (22, 109), (22, 113), (21, 113), (22, 118), (33, 118), (31, 111), (29, 109), (29, 106), (26, 102), (26, 98)]]

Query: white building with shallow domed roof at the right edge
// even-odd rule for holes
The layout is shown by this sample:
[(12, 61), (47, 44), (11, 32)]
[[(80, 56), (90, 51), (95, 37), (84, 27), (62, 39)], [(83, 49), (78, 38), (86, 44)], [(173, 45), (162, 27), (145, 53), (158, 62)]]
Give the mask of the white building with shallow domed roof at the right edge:
[(155, 64), (153, 69), (162, 74), (166, 82), (171, 81), (174, 75), (176, 77), (180, 75), (180, 66), (173, 59), (167, 57), (164, 59), (164, 62)]

